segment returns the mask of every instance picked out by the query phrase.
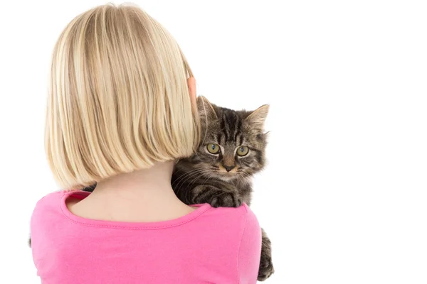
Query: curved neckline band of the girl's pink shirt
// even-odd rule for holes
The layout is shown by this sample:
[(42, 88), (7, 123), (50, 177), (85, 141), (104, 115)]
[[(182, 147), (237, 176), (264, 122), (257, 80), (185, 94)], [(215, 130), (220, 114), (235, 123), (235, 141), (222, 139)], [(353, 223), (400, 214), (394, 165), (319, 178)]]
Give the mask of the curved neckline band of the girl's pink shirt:
[(88, 226), (99, 226), (99, 227), (107, 227), (113, 229), (165, 229), (172, 226), (179, 226), (190, 222), (193, 219), (196, 219), (201, 214), (206, 212), (208, 209), (211, 209), (211, 205), (208, 203), (204, 204), (192, 204), (192, 207), (199, 207), (194, 211), (186, 214), (184, 216), (178, 217), (176, 219), (171, 219), (167, 221), (159, 221), (159, 222), (119, 222), (119, 221), (106, 221), (106, 220), (97, 220), (97, 219), (88, 219), (84, 217), (77, 216), (70, 212), (67, 208), (67, 204), (65, 203), (68, 197), (75, 197), (80, 200), (88, 197), (90, 192), (85, 192), (83, 190), (64, 192), (63, 196), (60, 198), (60, 209), (65, 215), (66, 218), (71, 221), (88, 225)]

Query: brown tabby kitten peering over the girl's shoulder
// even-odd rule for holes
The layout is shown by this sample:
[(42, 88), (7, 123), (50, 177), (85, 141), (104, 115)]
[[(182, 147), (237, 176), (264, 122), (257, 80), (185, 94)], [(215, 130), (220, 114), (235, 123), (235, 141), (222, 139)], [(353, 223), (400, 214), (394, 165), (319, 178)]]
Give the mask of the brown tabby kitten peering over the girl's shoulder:
[[(212, 207), (250, 205), (251, 178), (265, 165), (267, 134), (263, 132), (268, 105), (255, 111), (234, 111), (198, 97), (202, 137), (196, 152), (176, 164), (172, 187), (186, 204)], [(263, 230), (258, 280), (273, 274), (271, 244)]]

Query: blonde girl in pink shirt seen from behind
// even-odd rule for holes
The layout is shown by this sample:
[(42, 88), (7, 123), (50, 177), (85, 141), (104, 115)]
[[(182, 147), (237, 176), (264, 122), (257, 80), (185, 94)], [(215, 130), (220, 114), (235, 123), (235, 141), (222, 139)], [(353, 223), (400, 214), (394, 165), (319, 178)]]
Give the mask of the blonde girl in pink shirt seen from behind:
[(199, 142), (195, 84), (174, 38), (135, 6), (98, 6), (61, 33), (46, 154), (68, 190), (31, 217), (42, 283), (256, 282), (261, 231), (246, 204), (188, 206), (171, 187)]

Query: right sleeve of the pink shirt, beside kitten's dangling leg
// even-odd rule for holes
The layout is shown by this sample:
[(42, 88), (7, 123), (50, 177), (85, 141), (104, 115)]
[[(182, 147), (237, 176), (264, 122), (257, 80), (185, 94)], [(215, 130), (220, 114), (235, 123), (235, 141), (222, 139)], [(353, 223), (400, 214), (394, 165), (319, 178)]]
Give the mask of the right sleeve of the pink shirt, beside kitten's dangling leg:
[(238, 251), (239, 284), (256, 283), (260, 266), (261, 228), (255, 214), (246, 205), (246, 222)]

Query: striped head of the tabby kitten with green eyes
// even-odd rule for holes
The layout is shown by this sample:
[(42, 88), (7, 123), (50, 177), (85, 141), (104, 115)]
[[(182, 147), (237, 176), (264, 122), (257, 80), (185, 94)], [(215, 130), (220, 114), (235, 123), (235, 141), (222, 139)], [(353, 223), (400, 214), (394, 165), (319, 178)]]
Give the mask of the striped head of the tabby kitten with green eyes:
[(264, 121), (268, 105), (255, 111), (234, 111), (198, 97), (201, 142), (190, 158), (196, 168), (224, 181), (250, 178), (265, 165)]

